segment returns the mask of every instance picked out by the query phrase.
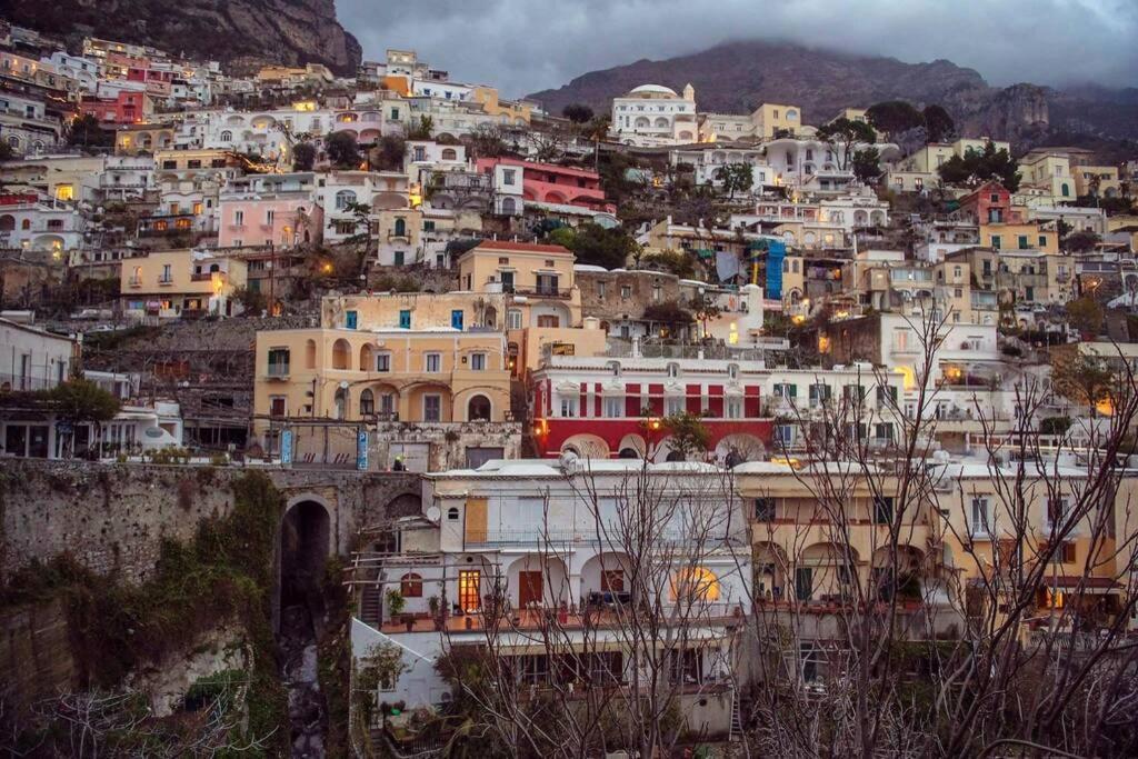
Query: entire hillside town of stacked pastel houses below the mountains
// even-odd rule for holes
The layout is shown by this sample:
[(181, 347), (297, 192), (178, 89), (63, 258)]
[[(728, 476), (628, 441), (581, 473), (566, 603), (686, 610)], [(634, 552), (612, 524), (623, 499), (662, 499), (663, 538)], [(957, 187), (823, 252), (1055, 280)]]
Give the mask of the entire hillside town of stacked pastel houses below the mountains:
[(1129, 149), (0, 24), (0, 745), (1135, 756)]

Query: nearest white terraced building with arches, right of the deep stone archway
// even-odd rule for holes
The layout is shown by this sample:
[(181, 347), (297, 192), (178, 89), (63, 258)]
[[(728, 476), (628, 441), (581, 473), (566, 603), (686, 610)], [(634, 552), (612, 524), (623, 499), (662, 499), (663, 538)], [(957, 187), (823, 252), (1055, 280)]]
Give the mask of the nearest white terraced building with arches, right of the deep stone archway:
[[(485, 646), (487, 635), (514, 659), (521, 683), (539, 686), (552, 671), (539, 620), (553, 614), (563, 630), (553, 645), (562, 655), (595, 657), (592, 666), (604, 667), (613, 687), (646, 678), (661, 663), (693, 729), (729, 729), (726, 684), (739, 666), (751, 548), (745, 510), (728, 482), (710, 464), (642, 470), (636, 461), (493, 461), (428, 475), (422, 518), (405, 522), (403, 551), (380, 558), (363, 588), (365, 607), (369, 595), (396, 591), (406, 621), (385, 614), (352, 624), (357, 660), (391, 644), (403, 654), (404, 670), (380, 685), (377, 701), (402, 700), (412, 709), (446, 702), (451, 687), (435, 662), (447, 650)], [(651, 496), (641, 497), (642, 489)], [(643, 543), (654, 561), (625, 553), (624, 536), (635, 530), (651, 530)], [(509, 610), (504, 624), (487, 632), (485, 612), (500, 603)], [(630, 642), (619, 626), (633, 603), (659, 610), (662, 625), (650, 634), (659, 641)], [(585, 613), (612, 624), (586, 625)], [(673, 614), (679, 621), (670, 625), (685, 626), (683, 652), (674, 650)], [(652, 665), (637, 671), (633, 653)]]

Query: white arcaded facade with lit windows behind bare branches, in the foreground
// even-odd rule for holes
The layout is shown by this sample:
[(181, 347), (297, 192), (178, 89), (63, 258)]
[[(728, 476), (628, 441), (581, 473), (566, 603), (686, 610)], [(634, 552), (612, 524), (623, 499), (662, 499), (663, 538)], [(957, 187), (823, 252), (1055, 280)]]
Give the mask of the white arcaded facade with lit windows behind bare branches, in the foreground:
[[(701, 604), (699, 618), (683, 622), (692, 640), (706, 641), (696, 646), (703, 657), (700, 673), (708, 680), (726, 679), (737, 660), (731, 628), (745, 613), (751, 584), (745, 511), (729, 479), (709, 464), (653, 464), (643, 475), (635, 461), (591, 464), (495, 461), (478, 470), (427, 476), (423, 515), (429, 537), (404, 533), (403, 545), (413, 539), (429, 545), (438, 558), (426, 562), (413, 555), (384, 559), (381, 583), (401, 588), (413, 577), (419, 595), (404, 597), (404, 612), (427, 611), (432, 596), (446, 610), (447, 632), (427, 632), (429, 625), (426, 630), (405, 630), (397, 622), (377, 629), (354, 619), (352, 642), (357, 659), (376, 645), (394, 643), (403, 652), (404, 671), (396, 682), (381, 686), (378, 700), (403, 700), (407, 708), (443, 703), (450, 686), (432, 663), (446, 647), (485, 644), (487, 633), (478, 626), (484, 597), (501, 594), (518, 620), (497, 633), (498, 643), (518, 643), (522, 645), (517, 651), (527, 650), (523, 644), (531, 646), (538, 635), (526, 627), (529, 616), (549, 609), (563, 620), (567, 638), (558, 645), (574, 650), (575, 641), (584, 646), (578, 610), (604, 613), (613, 604), (630, 603), (634, 593), (643, 595), (638, 588), (652, 583), (660, 597), (638, 601), (659, 603), (667, 616), (682, 603), (675, 591), (668, 591), (676, 587), (668, 578), (677, 572), (698, 572), (701, 578), (703, 600), (695, 602)], [(648, 505), (636, 495), (641, 482), (653, 494)], [(596, 498), (588, 496), (591, 487)], [(651, 505), (676, 503), (679, 509), (670, 511)], [(649, 537), (650, 543), (659, 541), (654, 544), (659, 562), (646, 570), (651, 578), (640, 579), (620, 548), (617, 531), (621, 519), (628, 522), (633, 510), (645, 508), (660, 520), (658, 534)], [(597, 520), (603, 529), (597, 529)], [(693, 525), (710, 526), (716, 538), (700, 541)], [(608, 640), (602, 641), (605, 650), (627, 643), (620, 629), (600, 635)], [(626, 669), (620, 679), (642, 676)]]

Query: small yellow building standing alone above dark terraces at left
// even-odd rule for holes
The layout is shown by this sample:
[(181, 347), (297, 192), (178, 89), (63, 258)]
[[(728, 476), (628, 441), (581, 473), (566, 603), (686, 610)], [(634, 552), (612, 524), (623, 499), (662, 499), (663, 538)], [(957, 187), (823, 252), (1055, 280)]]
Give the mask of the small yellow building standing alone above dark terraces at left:
[(137, 315), (233, 315), (233, 292), (247, 284), (244, 261), (192, 250), (125, 258), (119, 275), (123, 308)]

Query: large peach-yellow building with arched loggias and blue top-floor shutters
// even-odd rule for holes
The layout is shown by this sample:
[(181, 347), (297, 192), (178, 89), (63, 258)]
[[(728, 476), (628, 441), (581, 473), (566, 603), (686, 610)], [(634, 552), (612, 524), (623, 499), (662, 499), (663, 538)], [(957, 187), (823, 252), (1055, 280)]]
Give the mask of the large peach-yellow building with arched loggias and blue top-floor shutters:
[(277, 451), (294, 429), (295, 461), (332, 464), (356, 460), (345, 430), (369, 430), (379, 469), (517, 455), (501, 297), (331, 297), (318, 328), (257, 332), (255, 435)]

